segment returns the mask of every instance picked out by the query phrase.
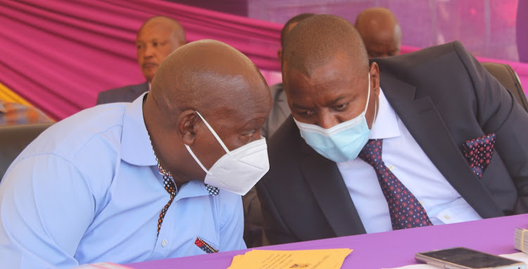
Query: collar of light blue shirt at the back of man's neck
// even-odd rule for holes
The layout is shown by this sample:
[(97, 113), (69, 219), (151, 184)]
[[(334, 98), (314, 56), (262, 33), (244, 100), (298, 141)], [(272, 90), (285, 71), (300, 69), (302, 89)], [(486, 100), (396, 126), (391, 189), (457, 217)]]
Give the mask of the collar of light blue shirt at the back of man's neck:
[(133, 165), (157, 165), (143, 119), (144, 93), (125, 109), (121, 134), (121, 158)]

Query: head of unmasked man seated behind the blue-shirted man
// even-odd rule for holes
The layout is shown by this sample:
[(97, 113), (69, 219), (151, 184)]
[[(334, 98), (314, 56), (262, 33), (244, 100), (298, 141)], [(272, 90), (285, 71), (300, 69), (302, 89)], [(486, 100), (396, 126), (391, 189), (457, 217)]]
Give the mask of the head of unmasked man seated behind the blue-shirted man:
[(163, 59), (187, 44), (182, 25), (176, 20), (156, 16), (145, 21), (137, 32), (137, 61), (148, 82), (152, 81)]

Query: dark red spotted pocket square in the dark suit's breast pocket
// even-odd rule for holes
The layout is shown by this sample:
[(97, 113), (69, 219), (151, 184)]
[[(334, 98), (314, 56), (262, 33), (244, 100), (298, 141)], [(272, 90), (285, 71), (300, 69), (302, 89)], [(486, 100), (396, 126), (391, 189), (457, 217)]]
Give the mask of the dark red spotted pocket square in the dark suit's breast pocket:
[(494, 154), (495, 134), (484, 135), (475, 139), (467, 140), (463, 147), (463, 153), (471, 170), (479, 178), (482, 178), (484, 170), (491, 162)]

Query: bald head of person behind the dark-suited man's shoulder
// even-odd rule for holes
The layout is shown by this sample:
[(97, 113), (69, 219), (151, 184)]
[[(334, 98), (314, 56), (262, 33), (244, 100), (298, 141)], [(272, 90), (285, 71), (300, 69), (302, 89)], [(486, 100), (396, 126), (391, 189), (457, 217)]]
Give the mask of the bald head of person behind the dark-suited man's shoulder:
[(367, 8), (354, 24), (367, 47), (369, 58), (400, 55), (401, 27), (386, 8)]

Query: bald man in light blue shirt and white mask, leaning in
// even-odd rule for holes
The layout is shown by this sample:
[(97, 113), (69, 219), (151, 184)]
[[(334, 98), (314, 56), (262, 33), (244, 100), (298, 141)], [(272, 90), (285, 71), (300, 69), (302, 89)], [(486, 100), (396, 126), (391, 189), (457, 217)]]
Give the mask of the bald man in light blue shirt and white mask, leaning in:
[(213, 40), (182, 46), (149, 93), (61, 120), (13, 161), (0, 184), (2, 267), (244, 249), (240, 195), (269, 169), (270, 109), (249, 58)]

